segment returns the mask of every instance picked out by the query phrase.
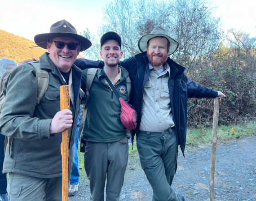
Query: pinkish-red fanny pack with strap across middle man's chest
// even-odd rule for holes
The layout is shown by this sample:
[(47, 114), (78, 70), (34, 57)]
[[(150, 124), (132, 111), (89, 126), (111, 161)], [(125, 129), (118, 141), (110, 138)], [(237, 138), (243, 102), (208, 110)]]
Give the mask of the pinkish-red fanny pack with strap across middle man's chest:
[[(106, 73), (103, 70), (102, 74), (106, 75)], [(121, 103), (120, 119), (122, 124), (128, 131), (135, 129), (137, 126), (137, 112), (129, 103), (127, 103), (127, 101), (124, 101), (124, 99), (120, 97), (117, 90), (115, 89), (115, 87), (113, 86), (113, 84), (107, 76), (105, 77), (105, 79), (110, 85), (112, 91), (115, 93), (116, 97), (119, 99), (119, 102)]]

